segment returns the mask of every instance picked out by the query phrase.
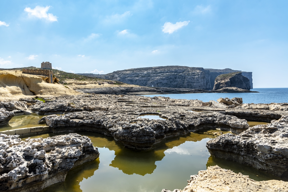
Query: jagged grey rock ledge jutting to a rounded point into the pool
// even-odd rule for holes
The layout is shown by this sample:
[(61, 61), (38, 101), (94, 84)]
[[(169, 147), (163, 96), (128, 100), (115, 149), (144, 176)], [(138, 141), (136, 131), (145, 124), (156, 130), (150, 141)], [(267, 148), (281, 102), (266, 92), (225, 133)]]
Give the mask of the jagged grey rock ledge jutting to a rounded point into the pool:
[[(87, 109), (87, 108), (86, 108)], [(167, 137), (185, 135), (189, 132), (206, 128), (220, 128), (239, 134), (249, 125), (246, 120), (220, 113), (194, 113), (187, 111), (149, 110), (149, 113), (138, 108), (126, 113), (107, 112), (107, 108), (97, 108), (97, 111), (73, 112), (64, 116), (46, 116), (41, 120), (53, 132), (90, 131), (111, 136), (126, 147), (133, 149), (150, 149)], [(100, 110), (100, 111), (99, 111)], [(140, 111), (140, 112), (139, 112)], [(159, 115), (163, 120), (149, 120), (140, 115)], [(166, 119), (166, 120), (165, 120)], [(40, 120), (40, 121), (41, 121)]]

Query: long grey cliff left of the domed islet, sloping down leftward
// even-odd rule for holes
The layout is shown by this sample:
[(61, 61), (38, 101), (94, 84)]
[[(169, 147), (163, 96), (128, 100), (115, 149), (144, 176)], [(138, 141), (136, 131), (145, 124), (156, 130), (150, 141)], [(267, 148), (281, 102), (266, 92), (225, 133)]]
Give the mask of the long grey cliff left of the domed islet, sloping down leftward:
[(115, 71), (99, 78), (133, 85), (184, 89), (211, 89), (210, 72), (201, 67), (161, 66)]

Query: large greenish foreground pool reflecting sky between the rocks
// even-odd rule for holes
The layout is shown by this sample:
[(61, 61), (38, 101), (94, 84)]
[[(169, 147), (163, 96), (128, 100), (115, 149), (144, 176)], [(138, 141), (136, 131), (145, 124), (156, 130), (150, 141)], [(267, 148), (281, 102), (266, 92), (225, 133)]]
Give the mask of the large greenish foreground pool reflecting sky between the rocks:
[[(127, 149), (111, 137), (79, 132), (80, 135), (88, 136), (93, 145), (98, 147), (99, 158), (72, 169), (68, 172), (64, 183), (53, 185), (42, 192), (158, 192), (162, 189), (183, 189), (190, 175), (215, 165), (233, 170), (235, 173), (249, 175), (256, 181), (280, 180), (278, 177), (249, 166), (211, 157), (206, 142), (216, 137), (213, 135), (215, 132), (229, 133), (220, 130), (190, 133), (186, 136), (166, 139), (149, 151)], [(46, 138), (53, 135), (35, 137)]]

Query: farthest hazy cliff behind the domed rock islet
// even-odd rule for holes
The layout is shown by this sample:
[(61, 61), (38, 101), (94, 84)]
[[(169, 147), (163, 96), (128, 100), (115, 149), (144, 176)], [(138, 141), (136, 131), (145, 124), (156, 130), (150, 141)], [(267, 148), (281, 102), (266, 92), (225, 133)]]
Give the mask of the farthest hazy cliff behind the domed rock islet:
[[(213, 88), (215, 78), (221, 74), (227, 74), (227, 73), (233, 73), (233, 72), (241, 72), (238, 70), (232, 70), (229, 68), (226, 69), (205, 69), (210, 71), (210, 84), (211, 84), (211, 89)], [(252, 79), (252, 72), (244, 72), (242, 71), (242, 75), (247, 77), (250, 80), (250, 87), (253, 89), (253, 79)]]

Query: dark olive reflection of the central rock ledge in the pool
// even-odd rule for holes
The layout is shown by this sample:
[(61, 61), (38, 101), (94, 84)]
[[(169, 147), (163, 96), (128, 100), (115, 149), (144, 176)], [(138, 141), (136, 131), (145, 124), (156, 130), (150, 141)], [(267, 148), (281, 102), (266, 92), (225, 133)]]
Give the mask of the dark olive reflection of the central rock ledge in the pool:
[[(214, 131), (222, 132), (218, 130), (213, 130), (213, 132)], [(81, 134), (81, 132), (79, 134)], [(136, 151), (133, 149), (125, 148), (121, 144), (116, 143), (113, 138), (106, 137), (101, 134), (82, 133), (82, 135), (88, 136), (94, 143), (93, 145), (96, 147), (106, 147), (110, 151), (115, 151), (116, 156), (111, 162), (110, 166), (118, 168), (119, 170), (122, 170), (123, 173), (128, 175), (135, 173), (142, 176), (145, 174), (151, 174), (156, 169), (155, 162), (161, 161), (164, 158), (164, 151), (167, 149), (172, 149), (173, 147), (179, 146), (186, 141), (196, 142), (201, 141), (204, 138), (215, 138), (214, 135), (207, 135), (203, 132), (190, 133), (189, 135), (166, 139), (155, 145), (154, 149), (149, 151)]]

